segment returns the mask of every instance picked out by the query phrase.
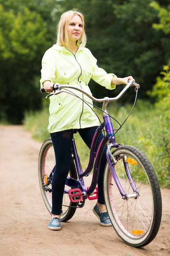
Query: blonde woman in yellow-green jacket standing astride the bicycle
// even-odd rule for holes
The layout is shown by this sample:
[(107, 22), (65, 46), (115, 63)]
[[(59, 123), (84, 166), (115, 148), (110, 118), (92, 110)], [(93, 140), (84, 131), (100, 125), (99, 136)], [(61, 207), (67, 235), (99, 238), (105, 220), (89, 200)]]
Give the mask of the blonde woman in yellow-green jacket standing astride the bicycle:
[[(57, 44), (48, 49), (42, 58), (40, 83), (46, 92), (52, 92), (53, 84), (56, 82), (75, 85), (91, 93), (88, 86), (91, 78), (109, 90), (115, 89), (116, 85), (127, 84), (129, 79), (133, 79), (132, 76), (118, 78), (115, 74), (107, 74), (97, 66), (96, 58), (85, 47), (84, 17), (81, 12), (71, 10), (63, 13), (57, 32)], [(72, 89), (70, 91), (92, 103), (81, 92)], [(48, 131), (56, 157), (56, 168), (52, 179), (52, 218), (48, 223), (48, 228), (51, 230), (61, 229), (62, 199), (71, 163), (73, 130), (78, 130), (90, 148), (94, 132), (99, 125), (92, 109), (78, 97), (68, 93), (50, 97)], [(106, 161), (105, 149), (98, 178), (98, 202), (93, 212), (100, 220), (100, 225), (111, 226), (103, 195), (103, 171)]]

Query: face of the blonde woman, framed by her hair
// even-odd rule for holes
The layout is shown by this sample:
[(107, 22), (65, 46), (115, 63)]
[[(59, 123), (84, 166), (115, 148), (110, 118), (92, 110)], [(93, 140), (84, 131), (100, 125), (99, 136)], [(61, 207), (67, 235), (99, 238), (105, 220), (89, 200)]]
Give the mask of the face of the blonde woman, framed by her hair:
[(81, 17), (78, 15), (75, 15), (70, 20), (70, 23), (68, 25), (68, 40), (69, 42), (76, 42), (79, 40), (83, 33), (83, 23), (81, 20)]

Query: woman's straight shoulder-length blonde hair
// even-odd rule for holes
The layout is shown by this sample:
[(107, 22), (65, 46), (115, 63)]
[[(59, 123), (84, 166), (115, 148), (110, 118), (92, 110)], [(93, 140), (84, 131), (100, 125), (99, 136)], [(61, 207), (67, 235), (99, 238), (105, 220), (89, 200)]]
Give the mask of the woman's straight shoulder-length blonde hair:
[(85, 22), (84, 22), (84, 15), (80, 11), (73, 9), (71, 11), (66, 11), (61, 15), (59, 23), (57, 25), (57, 43), (61, 46), (68, 45), (68, 26), (70, 24), (70, 20), (73, 16), (78, 15), (80, 16), (83, 24), (83, 33), (79, 40), (76, 43), (82, 43), (82, 46), (86, 45), (87, 38), (85, 34)]

